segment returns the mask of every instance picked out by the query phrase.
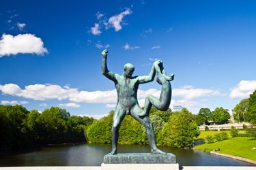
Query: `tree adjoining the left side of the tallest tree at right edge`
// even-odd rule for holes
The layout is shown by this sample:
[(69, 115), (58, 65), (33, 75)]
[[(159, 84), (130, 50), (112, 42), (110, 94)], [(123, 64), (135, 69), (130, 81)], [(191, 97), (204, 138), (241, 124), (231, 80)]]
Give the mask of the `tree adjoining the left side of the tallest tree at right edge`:
[(234, 117), (236, 120), (245, 121), (244, 116), (247, 113), (248, 102), (249, 102), (249, 99), (242, 99), (242, 101), (240, 101), (240, 103), (238, 103), (234, 107), (234, 111), (236, 112)]

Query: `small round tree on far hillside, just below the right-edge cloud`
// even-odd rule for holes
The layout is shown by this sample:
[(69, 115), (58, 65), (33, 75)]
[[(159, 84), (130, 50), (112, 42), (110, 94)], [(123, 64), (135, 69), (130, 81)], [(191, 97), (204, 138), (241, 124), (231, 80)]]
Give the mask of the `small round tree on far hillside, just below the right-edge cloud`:
[(218, 124), (225, 124), (228, 122), (230, 115), (223, 107), (216, 107), (212, 112), (212, 120), (218, 122)]

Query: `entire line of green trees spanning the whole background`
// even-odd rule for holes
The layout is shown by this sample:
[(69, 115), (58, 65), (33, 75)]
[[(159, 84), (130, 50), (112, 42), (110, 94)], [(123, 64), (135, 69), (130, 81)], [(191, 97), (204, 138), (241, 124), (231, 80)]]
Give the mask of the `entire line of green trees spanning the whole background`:
[[(244, 117), (247, 122), (255, 124), (256, 90), (248, 99), (240, 101), (235, 111), (236, 118)], [(208, 108), (201, 108), (197, 115), (186, 108), (180, 112), (171, 112), (171, 109), (161, 112), (152, 107), (150, 111), (156, 143), (176, 148), (193, 146), (193, 139), (200, 134), (198, 125), (210, 121), (223, 124), (229, 118), (229, 113), (223, 107), (216, 107), (212, 112)], [(111, 143), (112, 121), (113, 111), (95, 120), (86, 116), (70, 116), (66, 109), (59, 107), (44, 109), (39, 113), (35, 109), (28, 111), (21, 105), (0, 105), (0, 152), (34, 148), (48, 143)], [(118, 142), (148, 144), (145, 127), (131, 116), (126, 116), (119, 129)]]

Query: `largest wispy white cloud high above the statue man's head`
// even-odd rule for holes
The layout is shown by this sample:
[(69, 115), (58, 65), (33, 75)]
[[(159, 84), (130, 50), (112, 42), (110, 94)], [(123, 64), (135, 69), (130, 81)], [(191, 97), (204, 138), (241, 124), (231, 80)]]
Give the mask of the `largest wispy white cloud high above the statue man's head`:
[(109, 18), (109, 21), (108, 21), (109, 26), (115, 28), (115, 31), (121, 30), (124, 16), (130, 15), (130, 14), (132, 14), (132, 11), (128, 8), (126, 9), (126, 11), (121, 12), (120, 14), (111, 16), (111, 18)]

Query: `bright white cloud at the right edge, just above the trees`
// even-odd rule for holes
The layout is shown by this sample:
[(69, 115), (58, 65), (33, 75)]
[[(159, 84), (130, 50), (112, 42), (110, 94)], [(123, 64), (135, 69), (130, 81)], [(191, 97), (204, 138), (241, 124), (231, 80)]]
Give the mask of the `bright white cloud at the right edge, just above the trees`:
[(242, 80), (235, 88), (231, 89), (229, 97), (231, 99), (246, 99), (254, 90), (256, 90), (256, 80)]

